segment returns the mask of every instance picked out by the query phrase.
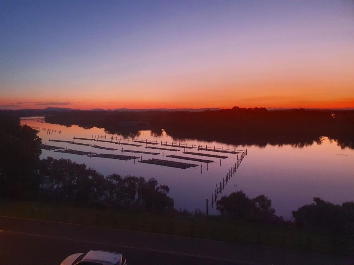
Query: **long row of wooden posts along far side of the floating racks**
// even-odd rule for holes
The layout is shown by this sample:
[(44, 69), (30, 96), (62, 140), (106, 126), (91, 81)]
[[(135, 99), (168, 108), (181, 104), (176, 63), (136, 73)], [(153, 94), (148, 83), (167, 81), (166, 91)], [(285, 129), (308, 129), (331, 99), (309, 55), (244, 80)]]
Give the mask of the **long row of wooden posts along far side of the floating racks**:
[[(96, 138), (101, 138), (101, 139), (111, 139), (112, 141), (113, 140), (116, 140), (116, 141), (132, 141), (132, 142), (135, 142), (135, 141), (139, 141), (139, 142), (146, 142), (146, 143), (158, 143), (158, 141), (157, 140), (155, 140), (155, 141), (153, 141), (153, 140), (147, 140), (147, 139), (145, 139), (145, 140), (143, 140), (143, 139), (138, 139), (138, 138), (133, 138), (133, 137), (118, 137), (118, 136), (107, 136), (107, 135), (96, 135), (96, 134), (93, 134), (92, 135), (92, 138), (95, 136), (95, 139)], [(164, 141), (160, 141), (160, 144), (161, 145), (172, 145), (172, 146), (176, 146), (176, 147), (192, 147), (192, 148), (197, 148), (198, 150), (200, 149), (200, 148), (205, 148), (205, 149), (207, 149), (207, 150), (210, 150), (210, 151), (212, 151), (212, 150), (218, 150), (218, 151), (231, 151), (231, 152), (234, 152), (234, 153), (236, 153), (236, 152), (240, 152), (240, 153), (242, 153), (242, 152), (245, 152), (245, 150), (239, 150), (239, 149), (236, 149), (236, 148), (234, 148), (234, 149), (228, 149), (228, 148), (224, 148), (224, 147), (222, 147), (222, 148), (218, 148), (218, 147), (215, 147), (215, 146), (213, 146), (213, 147), (210, 147), (209, 146), (209, 148), (208, 148), (208, 146), (206, 145), (206, 146), (202, 146), (202, 145), (193, 145), (193, 143), (191, 143), (191, 144), (188, 144), (188, 143), (182, 143), (181, 144), (181, 142), (178, 142), (178, 143), (176, 143), (176, 142), (164, 142)]]

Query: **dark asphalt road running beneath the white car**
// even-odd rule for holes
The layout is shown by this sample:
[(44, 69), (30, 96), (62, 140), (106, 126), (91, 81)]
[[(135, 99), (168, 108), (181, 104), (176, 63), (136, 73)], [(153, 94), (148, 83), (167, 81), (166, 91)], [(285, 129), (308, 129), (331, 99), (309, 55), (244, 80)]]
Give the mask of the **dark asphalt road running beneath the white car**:
[(55, 264), (90, 249), (122, 253), (133, 264), (354, 264), (352, 257), (0, 217), (0, 264)]

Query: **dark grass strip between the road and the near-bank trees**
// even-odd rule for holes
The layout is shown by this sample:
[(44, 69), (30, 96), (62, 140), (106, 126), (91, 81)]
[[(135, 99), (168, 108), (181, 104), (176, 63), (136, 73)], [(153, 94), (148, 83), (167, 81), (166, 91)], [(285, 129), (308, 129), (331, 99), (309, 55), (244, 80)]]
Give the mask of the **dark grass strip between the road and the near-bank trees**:
[(324, 253), (354, 253), (350, 235), (310, 232), (290, 225), (233, 222), (216, 216), (154, 215), (22, 201), (0, 201), (0, 215)]

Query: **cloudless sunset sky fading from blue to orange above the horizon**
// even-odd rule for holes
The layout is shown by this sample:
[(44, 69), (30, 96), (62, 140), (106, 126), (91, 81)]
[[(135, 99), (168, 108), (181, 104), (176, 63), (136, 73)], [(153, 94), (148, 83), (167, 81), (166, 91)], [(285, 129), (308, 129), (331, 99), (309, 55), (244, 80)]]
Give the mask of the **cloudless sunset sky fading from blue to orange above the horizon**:
[(0, 109), (354, 107), (354, 1), (0, 1)]

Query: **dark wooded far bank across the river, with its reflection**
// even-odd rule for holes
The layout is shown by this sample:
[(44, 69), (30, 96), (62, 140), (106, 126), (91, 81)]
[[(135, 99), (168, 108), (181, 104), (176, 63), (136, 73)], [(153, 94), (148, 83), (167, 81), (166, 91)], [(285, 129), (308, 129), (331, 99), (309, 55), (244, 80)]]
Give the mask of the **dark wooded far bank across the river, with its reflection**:
[(46, 122), (83, 128), (104, 128), (106, 133), (139, 137), (137, 128), (120, 122), (149, 122), (153, 135), (177, 140), (218, 141), (233, 145), (292, 145), (303, 147), (320, 143), (327, 136), (342, 148), (354, 148), (354, 111), (275, 110), (239, 108), (203, 112), (112, 112), (72, 111), (46, 116)]

